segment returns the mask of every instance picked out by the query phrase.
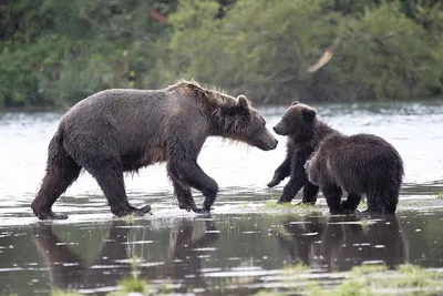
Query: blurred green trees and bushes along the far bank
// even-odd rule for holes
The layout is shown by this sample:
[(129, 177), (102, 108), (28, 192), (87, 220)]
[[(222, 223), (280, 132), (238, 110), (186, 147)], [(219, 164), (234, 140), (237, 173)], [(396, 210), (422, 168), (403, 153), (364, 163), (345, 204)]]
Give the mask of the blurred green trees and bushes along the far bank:
[(0, 108), (177, 79), (256, 103), (443, 90), (440, 0), (3, 0)]

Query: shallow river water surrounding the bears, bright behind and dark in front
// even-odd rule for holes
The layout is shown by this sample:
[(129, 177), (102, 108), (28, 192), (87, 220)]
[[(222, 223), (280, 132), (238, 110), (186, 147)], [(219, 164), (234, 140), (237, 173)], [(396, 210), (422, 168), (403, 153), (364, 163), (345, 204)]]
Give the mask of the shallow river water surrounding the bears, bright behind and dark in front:
[[(284, 111), (260, 109), (269, 126)], [(406, 176), (395, 216), (371, 223), (329, 216), (323, 198), (316, 213), (268, 207), (286, 183), (266, 187), (285, 154), (285, 139), (277, 136), (271, 152), (208, 139), (199, 163), (220, 187), (210, 217), (178, 210), (165, 167), (156, 165), (126, 176), (130, 201), (151, 204), (153, 215), (113, 218), (84, 173), (54, 205), (69, 220), (38, 222), (29, 205), (61, 113), (0, 113), (0, 292), (104, 294), (131, 274), (133, 257), (151, 285), (204, 295), (290, 288), (281, 269), (297, 263), (326, 284), (362, 262), (443, 267), (443, 200), (436, 198), (443, 190), (443, 103), (332, 104), (318, 112), (344, 133), (377, 133), (399, 150)]]

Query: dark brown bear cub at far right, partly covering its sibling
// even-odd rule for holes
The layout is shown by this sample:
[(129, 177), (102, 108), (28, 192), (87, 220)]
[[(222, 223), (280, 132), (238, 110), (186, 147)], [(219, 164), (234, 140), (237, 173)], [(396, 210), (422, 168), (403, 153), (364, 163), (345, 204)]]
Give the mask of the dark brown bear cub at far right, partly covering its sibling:
[[(306, 163), (311, 183), (320, 186), (332, 214), (354, 211), (362, 194), (367, 213), (394, 213), (404, 174), (399, 152), (372, 134), (331, 133)], [(359, 198), (341, 202), (342, 191)]]

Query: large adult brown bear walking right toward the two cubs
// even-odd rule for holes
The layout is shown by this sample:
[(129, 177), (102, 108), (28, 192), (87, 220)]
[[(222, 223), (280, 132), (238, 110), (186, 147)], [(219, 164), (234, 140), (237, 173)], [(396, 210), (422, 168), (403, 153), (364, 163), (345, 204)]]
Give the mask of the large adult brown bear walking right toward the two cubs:
[[(60, 120), (49, 144), (47, 173), (31, 207), (40, 220), (68, 218), (53, 213), (52, 205), (84, 169), (97, 181), (114, 215), (143, 215), (151, 206), (136, 208), (128, 203), (123, 174), (167, 162), (179, 207), (208, 213), (218, 185), (197, 164), (208, 136), (240, 141), (262, 151), (277, 146), (265, 119), (244, 95), (235, 99), (195, 81), (162, 90), (97, 92)], [(202, 208), (195, 205), (190, 187), (205, 196)]]

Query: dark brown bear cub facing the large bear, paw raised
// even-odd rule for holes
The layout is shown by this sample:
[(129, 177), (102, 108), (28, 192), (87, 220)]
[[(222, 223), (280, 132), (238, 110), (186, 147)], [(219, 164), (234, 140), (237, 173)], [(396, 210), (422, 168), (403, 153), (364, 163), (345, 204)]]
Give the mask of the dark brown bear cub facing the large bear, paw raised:
[(290, 203), (300, 188), (303, 188), (301, 203), (316, 204), (319, 187), (309, 182), (305, 163), (321, 140), (338, 131), (319, 121), (313, 109), (297, 101), (286, 110), (281, 120), (274, 126), (274, 131), (279, 135), (286, 135), (288, 142), (285, 161), (275, 171), (268, 186), (274, 187), (290, 176), (277, 203)]

